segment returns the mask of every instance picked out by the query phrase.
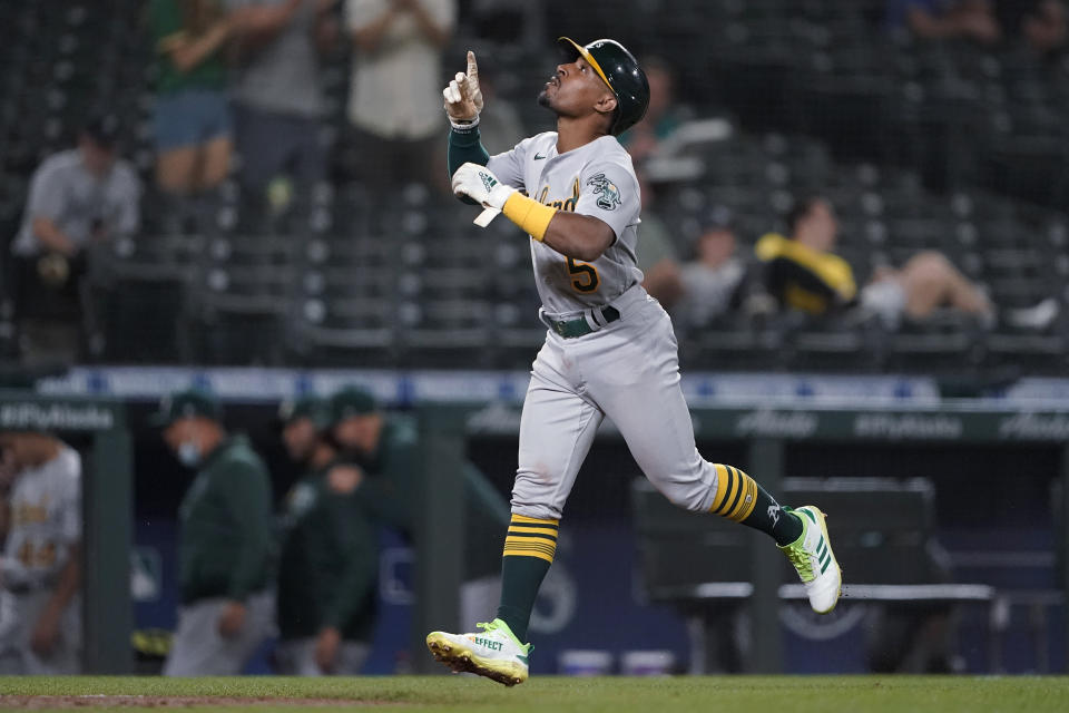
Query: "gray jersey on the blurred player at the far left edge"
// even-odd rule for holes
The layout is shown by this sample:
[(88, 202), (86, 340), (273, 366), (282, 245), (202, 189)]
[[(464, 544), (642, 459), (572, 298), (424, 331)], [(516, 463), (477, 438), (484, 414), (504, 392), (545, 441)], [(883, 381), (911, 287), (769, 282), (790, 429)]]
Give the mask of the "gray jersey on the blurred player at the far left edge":
[(16, 476), (10, 529), (0, 563), (9, 589), (56, 584), (69, 548), (81, 540), (81, 458), (69, 447)]

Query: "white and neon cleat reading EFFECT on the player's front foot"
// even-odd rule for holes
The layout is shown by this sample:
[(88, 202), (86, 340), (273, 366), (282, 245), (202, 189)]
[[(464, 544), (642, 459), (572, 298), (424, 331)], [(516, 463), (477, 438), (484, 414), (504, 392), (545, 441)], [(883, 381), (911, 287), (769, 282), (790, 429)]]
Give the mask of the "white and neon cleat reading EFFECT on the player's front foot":
[(527, 681), (530, 644), (521, 644), (501, 619), (475, 624), (481, 633), (447, 634), (431, 632), (426, 647), (434, 658), (455, 673), (474, 673), (514, 686)]

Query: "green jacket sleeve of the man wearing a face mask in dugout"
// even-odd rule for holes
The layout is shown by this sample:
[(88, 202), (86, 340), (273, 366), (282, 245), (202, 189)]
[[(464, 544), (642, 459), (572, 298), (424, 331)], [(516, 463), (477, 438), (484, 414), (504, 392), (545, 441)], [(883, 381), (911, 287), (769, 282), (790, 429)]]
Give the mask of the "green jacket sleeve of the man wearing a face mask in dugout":
[(222, 491), (241, 533), (241, 550), (231, 573), (226, 595), (244, 599), (263, 587), (271, 557), (271, 487), (267, 473), (252, 463), (222, 478)]

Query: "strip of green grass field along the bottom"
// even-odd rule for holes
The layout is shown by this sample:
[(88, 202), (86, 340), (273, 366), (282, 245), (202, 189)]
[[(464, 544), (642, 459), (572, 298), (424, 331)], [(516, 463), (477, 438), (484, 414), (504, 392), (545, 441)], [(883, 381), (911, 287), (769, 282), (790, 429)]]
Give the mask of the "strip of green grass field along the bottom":
[(560, 678), (516, 688), (459, 676), (0, 677), (0, 710), (184, 709), (557, 713), (998, 713), (1069, 711), (1067, 677), (713, 676)]

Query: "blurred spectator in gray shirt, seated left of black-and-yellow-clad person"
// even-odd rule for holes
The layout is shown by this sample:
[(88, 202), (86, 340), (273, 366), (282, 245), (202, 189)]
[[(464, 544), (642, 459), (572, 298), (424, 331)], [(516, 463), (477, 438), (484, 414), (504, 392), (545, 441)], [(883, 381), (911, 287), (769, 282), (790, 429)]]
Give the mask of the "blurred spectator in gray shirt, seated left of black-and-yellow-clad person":
[(694, 260), (683, 266), (683, 296), (674, 316), (685, 328), (703, 328), (738, 302), (746, 265), (735, 254), (729, 211), (718, 207), (703, 221)]

